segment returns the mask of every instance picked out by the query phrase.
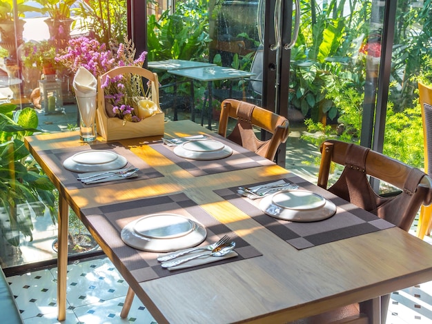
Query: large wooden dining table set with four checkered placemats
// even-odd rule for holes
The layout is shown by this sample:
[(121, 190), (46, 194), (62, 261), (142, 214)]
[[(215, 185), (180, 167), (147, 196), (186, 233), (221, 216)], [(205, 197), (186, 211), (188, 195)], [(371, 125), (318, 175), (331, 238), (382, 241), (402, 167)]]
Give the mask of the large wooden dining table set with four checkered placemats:
[[(165, 124), (166, 138), (197, 134), (223, 141), (191, 121)], [(66, 318), (68, 206), (158, 323), (286, 323), (357, 302), (366, 305), (371, 323), (380, 323), (379, 296), (432, 280), (431, 245), (290, 170), (224, 143), (233, 148), (232, 156), (188, 161), (175, 156), (161, 136), (108, 143), (98, 138), (90, 144), (80, 142), (77, 132), (26, 137), (30, 153), (59, 190), (59, 321)], [(84, 185), (61, 162), (90, 149), (114, 150), (141, 173), (134, 179)], [(260, 212), (259, 199), (237, 194), (238, 186), (277, 180), (322, 194), (337, 205), (337, 214), (322, 225), (280, 221)], [(204, 223), (208, 243), (229, 234), (238, 243), (239, 256), (168, 271), (156, 261), (158, 253), (121, 240), (121, 228), (128, 222), (168, 211)], [(338, 227), (344, 219), (355, 223), (349, 228), (357, 223), (377, 228), (355, 236), (333, 228), (325, 239), (322, 233), (307, 234), (325, 224)]]

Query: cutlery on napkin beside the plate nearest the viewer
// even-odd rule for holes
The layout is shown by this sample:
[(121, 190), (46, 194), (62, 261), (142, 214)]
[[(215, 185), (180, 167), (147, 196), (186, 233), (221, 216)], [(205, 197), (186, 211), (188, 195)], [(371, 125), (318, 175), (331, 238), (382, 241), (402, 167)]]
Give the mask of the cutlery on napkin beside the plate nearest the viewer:
[[(206, 245), (204, 247), (193, 247), (192, 249), (182, 250), (179, 252), (166, 254), (164, 256), (159, 256), (159, 258), (157, 258), (157, 261), (161, 262), (161, 267), (170, 268), (170, 267), (175, 267), (177, 265), (181, 265), (183, 263), (186, 263), (194, 259), (202, 258), (203, 256), (206, 257), (224, 256), (229, 252), (231, 252), (232, 250), (234, 250), (234, 247), (235, 247), (235, 242), (231, 241), (230, 236), (225, 235), (224, 237), (222, 237), (222, 239), (220, 239), (216, 243)], [(206, 252), (195, 254), (193, 256), (189, 256), (186, 258), (177, 259), (181, 256), (185, 256), (199, 250), (206, 250)]]

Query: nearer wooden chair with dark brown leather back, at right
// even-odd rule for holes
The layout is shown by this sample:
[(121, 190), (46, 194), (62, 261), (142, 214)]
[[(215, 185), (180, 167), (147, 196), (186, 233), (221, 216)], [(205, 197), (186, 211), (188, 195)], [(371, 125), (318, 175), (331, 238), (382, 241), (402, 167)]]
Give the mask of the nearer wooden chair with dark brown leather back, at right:
[[(327, 188), (331, 162), (345, 165), (340, 178), (328, 191), (386, 219), (402, 230), (409, 230), (422, 203), (429, 205), (432, 202), (432, 181), (417, 168), (368, 148), (341, 141), (324, 142), (321, 152), (317, 183), (320, 187)], [(371, 176), (397, 189), (386, 196), (375, 194), (369, 185)], [(369, 317), (364, 314), (366, 312), (377, 320), (381, 316), (381, 323), (386, 323), (389, 300), (390, 295), (381, 296), (374, 298), (366, 306), (363, 303), (348, 305), (293, 323), (369, 323)], [(380, 309), (377, 306), (381, 307), (381, 314), (377, 314)]]

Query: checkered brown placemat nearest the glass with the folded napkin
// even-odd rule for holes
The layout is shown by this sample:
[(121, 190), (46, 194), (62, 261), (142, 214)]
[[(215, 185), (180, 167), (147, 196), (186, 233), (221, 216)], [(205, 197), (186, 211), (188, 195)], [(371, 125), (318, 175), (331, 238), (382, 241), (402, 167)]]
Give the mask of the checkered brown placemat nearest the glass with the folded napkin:
[[(63, 161), (68, 159), (68, 157), (77, 154), (78, 152), (83, 152), (86, 150), (107, 150), (107, 151), (115, 152), (121, 156), (124, 156), (128, 161), (126, 167), (133, 166), (135, 168), (139, 168), (139, 171), (136, 173), (137, 176), (134, 178), (121, 179), (121, 180), (103, 182), (103, 183), (90, 183), (90, 184), (82, 183), (77, 179), (79, 173), (64, 168)], [(63, 185), (65, 185), (65, 187), (68, 188), (69, 190), (97, 187), (101, 185), (110, 185), (112, 183), (123, 183), (126, 181), (137, 181), (137, 180), (144, 180), (144, 179), (159, 178), (161, 176), (164, 176), (163, 174), (155, 170), (155, 168), (151, 167), (142, 159), (140, 159), (139, 156), (135, 155), (133, 152), (131, 152), (123, 145), (121, 145), (121, 143), (118, 142), (96, 143), (96, 144), (90, 144), (88, 146), (83, 145), (83, 146), (76, 146), (73, 148), (45, 150), (45, 151), (41, 151), (39, 155), (44, 156), (46, 163), (48, 163), (48, 165), (52, 170), (55, 170), (54, 168), (61, 169), (61, 172), (56, 172), (56, 174), (58, 174), (59, 179), (61, 180)]]

